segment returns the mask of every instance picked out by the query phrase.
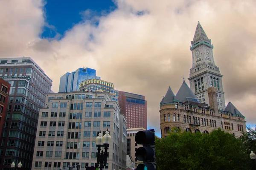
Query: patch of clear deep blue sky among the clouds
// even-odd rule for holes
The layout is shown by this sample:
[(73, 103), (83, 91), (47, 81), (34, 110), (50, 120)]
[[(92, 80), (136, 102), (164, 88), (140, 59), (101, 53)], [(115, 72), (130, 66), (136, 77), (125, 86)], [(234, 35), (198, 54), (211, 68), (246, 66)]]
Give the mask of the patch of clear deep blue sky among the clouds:
[(47, 0), (45, 5), (46, 22), (41, 38), (61, 36), (74, 24), (82, 21), (82, 12), (92, 10), (93, 14), (101, 15), (116, 9), (112, 0)]

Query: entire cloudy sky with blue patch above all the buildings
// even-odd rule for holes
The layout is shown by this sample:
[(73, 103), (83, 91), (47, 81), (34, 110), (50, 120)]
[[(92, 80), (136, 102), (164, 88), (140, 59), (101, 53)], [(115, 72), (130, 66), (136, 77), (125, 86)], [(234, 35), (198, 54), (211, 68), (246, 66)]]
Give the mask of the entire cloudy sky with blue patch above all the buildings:
[[(161, 3), (160, 3), (161, 2)], [(94, 68), (115, 89), (145, 96), (148, 129), (160, 133), (160, 101), (192, 67), (200, 21), (214, 45), (226, 105), (256, 125), (255, 0), (2, 0), (1, 57), (31, 57), (53, 79)]]

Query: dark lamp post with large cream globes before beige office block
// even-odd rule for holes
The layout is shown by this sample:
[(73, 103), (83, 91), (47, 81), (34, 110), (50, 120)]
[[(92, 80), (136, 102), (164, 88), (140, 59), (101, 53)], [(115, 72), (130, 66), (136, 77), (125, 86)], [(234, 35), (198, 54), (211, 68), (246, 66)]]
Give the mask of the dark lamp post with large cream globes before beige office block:
[[(96, 145), (98, 147), (97, 164), (99, 165), (100, 170), (102, 170), (107, 164), (108, 147), (110, 142), (111, 136), (108, 133), (108, 129), (104, 136), (102, 136), (102, 133), (99, 131), (99, 136), (96, 137)], [(101, 147), (104, 147), (105, 151), (103, 151), (103, 148), (101, 150)]]

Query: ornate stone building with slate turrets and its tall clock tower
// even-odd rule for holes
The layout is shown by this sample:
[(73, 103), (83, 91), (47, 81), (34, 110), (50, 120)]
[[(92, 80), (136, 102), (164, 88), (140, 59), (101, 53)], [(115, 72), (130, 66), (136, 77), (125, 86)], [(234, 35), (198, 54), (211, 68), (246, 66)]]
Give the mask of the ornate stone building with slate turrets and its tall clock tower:
[(225, 107), (222, 75), (214, 62), (213, 45), (199, 22), (191, 43), (190, 88), (183, 79), (177, 94), (169, 87), (160, 102), (161, 137), (168, 136), (173, 127), (201, 133), (221, 128), (241, 136), (246, 131), (245, 117), (231, 102)]

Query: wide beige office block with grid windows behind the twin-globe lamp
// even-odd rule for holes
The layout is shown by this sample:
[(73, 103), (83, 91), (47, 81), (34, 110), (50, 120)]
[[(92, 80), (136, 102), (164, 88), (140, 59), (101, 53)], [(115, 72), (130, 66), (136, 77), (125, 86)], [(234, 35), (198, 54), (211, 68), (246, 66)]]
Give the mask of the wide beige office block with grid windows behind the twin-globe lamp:
[(38, 121), (32, 170), (53, 170), (76, 163), (81, 165), (81, 170), (95, 167), (96, 136), (99, 131), (104, 135), (106, 130), (112, 142), (105, 169), (125, 170), (126, 120), (108, 93), (47, 94)]

